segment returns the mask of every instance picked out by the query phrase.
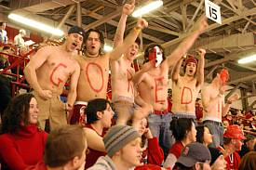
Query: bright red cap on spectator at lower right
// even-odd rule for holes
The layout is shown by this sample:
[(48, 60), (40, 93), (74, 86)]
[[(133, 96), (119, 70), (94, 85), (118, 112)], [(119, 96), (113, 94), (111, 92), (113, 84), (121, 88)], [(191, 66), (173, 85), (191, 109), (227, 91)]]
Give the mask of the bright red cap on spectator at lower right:
[(223, 137), (234, 139), (246, 139), (243, 130), (238, 125), (229, 125), (225, 130)]

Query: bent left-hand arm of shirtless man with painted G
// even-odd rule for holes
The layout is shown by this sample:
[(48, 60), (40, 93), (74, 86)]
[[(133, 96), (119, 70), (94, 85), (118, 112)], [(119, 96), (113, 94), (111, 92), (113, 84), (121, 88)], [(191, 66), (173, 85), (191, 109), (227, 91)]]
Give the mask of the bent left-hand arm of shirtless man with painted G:
[(51, 98), (52, 92), (50, 90), (42, 89), (42, 87), (38, 84), (35, 71), (47, 61), (51, 50), (52, 49), (50, 46), (45, 46), (39, 49), (24, 69), (26, 80), (32, 86), (32, 88), (34, 88), (34, 91), (36, 91), (38, 95), (44, 99)]

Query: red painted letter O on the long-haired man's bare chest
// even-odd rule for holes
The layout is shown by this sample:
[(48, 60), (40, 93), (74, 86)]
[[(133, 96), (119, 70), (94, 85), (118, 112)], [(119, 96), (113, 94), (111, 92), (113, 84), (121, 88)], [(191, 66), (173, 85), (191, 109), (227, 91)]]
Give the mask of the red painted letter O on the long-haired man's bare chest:
[[(90, 79), (88, 77), (89, 68), (90, 68), (89, 66), (97, 67), (99, 69), (99, 71), (101, 72), (101, 74), (99, 74), (98, 77), (94, 77), (95, 79), (98, 79), (98, 78), (101, 77), (101, 86), (100, 86), (100, 88), (96, 88), (93, 85), (91, 85)], [(86, 68), (86, 76), (87, 76), (88, 85), (90, 86), (90, 88), (93, 91), (95, 91), (96, 93), (100, 93), (101, 90), (103, 89), (103, 86), (104, 86), (104, 76), (103, 76), (103, 71), (102, 71), (101, 66), (99, 64), (95, 63), (95, 62), (89, 62), (88, 65), (87, 65), (87, 68)]]

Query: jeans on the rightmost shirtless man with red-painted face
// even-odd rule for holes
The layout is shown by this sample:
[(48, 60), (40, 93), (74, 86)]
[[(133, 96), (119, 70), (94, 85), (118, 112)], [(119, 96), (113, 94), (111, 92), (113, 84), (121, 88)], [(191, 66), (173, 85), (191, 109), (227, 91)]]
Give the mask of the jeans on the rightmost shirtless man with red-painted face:
[(205, 121), (204, 125), (209, 128), (209, 132), (211, 133), (211, 135), (213, 135), (212, 143), (209, 144), (209, 147), (217, 148), (219, 146), (222, 146), (223, 145), (223, 133), (224, 133), (223, 125), (221, 123), (220, 124), (212, 124), (208, 121)]

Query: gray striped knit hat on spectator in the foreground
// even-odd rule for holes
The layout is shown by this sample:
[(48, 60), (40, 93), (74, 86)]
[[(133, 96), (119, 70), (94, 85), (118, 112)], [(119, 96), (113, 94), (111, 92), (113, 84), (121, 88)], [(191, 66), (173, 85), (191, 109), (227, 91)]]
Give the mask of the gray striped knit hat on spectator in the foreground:
[(128, 142), (141, 137), (136, 129), (129, 125), (114, 125), (103, 137), (107, 154), (112, 157), (116, 151), (125, 147)]

